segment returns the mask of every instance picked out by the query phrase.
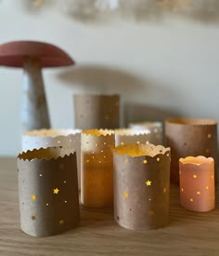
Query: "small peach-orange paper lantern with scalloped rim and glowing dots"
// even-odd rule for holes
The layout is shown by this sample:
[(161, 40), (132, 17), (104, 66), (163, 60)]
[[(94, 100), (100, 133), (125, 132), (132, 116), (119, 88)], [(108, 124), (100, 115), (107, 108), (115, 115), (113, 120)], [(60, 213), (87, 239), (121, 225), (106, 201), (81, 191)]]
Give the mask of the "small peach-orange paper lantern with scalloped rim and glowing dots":
[(210, 211), (215, 207), (212, 157), (187, 156), (179, 160), (180, 201), (186, 209)]

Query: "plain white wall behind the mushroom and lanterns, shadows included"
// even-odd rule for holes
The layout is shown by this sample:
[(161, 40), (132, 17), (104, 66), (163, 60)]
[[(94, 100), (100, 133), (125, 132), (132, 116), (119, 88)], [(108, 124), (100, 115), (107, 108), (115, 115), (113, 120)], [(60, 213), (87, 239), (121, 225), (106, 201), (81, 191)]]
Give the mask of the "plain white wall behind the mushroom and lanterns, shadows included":
[[(73, 126), (72, 93), (121, 93), (123, 121), (183, 115), (219, 120), (219, 26), (170, 18), (80, 23), (58, 11), (27, 13), (0, 2), (1, 43), (19, 39), (62, 47), (77, 67), (46, 70), (54, 128)], [(20, 150), (22, 71), (0, 67), (0, 155)]]

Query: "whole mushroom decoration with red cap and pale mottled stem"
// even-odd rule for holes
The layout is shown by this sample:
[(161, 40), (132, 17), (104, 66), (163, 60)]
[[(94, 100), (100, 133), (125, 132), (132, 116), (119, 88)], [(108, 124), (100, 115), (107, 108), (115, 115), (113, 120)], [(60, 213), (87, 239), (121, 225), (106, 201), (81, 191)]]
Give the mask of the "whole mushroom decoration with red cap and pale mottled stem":
[(71, 57), (58, 47), (34, 41), (14, 41), (0, 45), (0, 65), (22, 67), (22, 130), (50, 128), (45, 88), (44, 67), (73, 65)]

